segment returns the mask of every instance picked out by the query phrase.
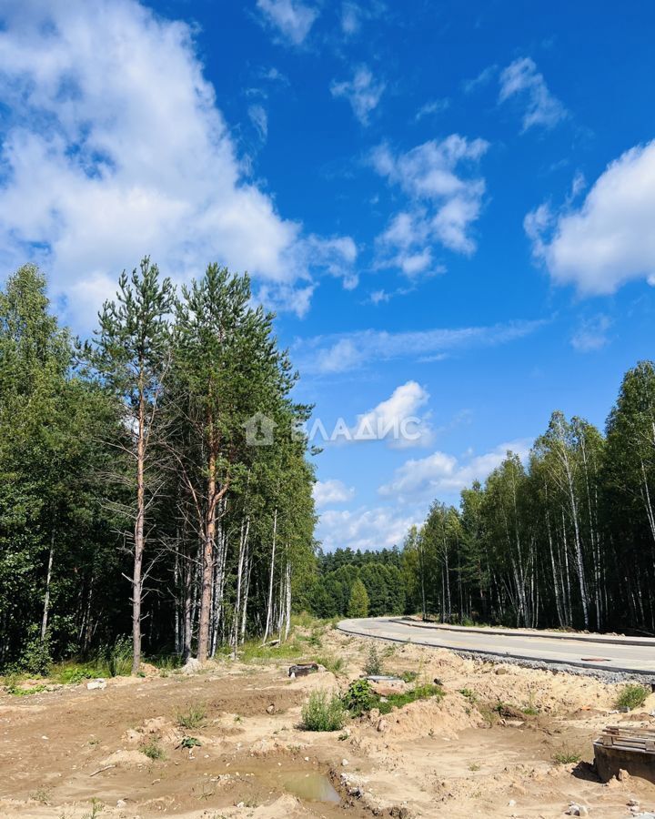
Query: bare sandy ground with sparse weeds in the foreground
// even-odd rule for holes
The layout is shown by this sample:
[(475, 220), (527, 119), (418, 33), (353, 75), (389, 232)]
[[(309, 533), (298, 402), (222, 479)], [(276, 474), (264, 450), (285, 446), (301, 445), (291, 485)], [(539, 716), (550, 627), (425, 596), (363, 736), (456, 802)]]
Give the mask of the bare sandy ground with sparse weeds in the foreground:
[[(654, 785), (601, 784), (589, 764), (604, 725), (655, 724), (655, 695), (640, 713), (610, 714), (616, 685), (378, 643), (385, 671), (437, 679), (446, 696), (310, 733), (298, 727), (309, 691), (345, 688), (369, 647), (332, 631), (321, 640), (319, 654), (347, 663), (338, 677), (289, 680), (288, 662), (225, 662), (190, 677), (109, 680), (104, 691), (0, 694), (0, 816), (550, 817), (576, 802), (614, 819), (630, 815), (630, 800), (655, 809)], [(176, 714), (197, 704), (202, 726), (178, 727)], [(181, 747), (186, 735), (200, 745)], [(140, 750), (151, 742), (164, 758)], [(582, 761), (555, 763), (558, 753)], [(340, 803), (313, 798), (329, 782)]]

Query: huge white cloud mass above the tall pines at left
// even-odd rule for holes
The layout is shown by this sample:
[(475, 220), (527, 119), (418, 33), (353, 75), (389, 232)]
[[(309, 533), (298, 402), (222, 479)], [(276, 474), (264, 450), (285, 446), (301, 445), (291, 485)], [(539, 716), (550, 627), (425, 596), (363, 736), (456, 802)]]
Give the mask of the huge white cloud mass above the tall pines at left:
[(247, 180), (187, 25), (134, 0), (10, 0), (1, 16), (5, 269), (42, 263), (76, 329), (146, 253), (177, 280), (247, 269), (307, 309), (314, 240)]

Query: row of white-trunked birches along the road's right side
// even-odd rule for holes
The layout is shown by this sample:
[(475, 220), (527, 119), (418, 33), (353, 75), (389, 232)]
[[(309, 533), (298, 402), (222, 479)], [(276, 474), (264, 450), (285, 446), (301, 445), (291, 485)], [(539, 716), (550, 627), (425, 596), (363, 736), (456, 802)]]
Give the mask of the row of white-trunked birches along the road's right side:
[(655, 365), (626, 374), (605, 434), (554, 412), (403, 550), (409, 606), (442, 620), (655, 633)]

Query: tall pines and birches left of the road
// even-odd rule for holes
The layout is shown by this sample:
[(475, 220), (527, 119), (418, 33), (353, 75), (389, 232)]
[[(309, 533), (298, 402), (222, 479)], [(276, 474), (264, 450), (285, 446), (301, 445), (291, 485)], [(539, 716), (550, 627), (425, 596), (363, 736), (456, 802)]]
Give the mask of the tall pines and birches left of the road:
[(314, 476), (272, 320), (247, 276), (210, 265), (177, 294), (146, 258), (80, 346), (38, 269), (9, 278), (0, 666), (111, 642), (130, 608), (134, 672), (144, 643), (204, 660), (288, 632), (314, 572)]

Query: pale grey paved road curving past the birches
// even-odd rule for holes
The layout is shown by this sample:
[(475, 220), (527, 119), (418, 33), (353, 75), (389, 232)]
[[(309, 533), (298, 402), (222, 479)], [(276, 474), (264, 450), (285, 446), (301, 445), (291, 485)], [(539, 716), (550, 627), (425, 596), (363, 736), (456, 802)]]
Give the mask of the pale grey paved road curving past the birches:
[(498, 659), (546, 662), (594, 672), (646, 675), (655, 682), (655, 639), (606, 634), (564, 634), (509, 629), (467, 629), (393, 617), (343, 620), (342, 632), (394, 642), (485, 654)]

